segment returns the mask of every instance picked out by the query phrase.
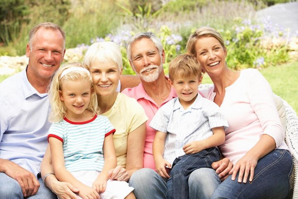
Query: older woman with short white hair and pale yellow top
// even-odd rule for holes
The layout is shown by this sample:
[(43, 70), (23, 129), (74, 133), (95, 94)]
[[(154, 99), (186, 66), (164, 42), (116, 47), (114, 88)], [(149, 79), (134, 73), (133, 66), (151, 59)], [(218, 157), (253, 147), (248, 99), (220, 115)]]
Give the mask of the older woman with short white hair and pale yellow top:
[(110, 179), (128, 181), (134, 171), (143, 168), (148, 117), (135, 99), (116, 91), (123, 70), (119, 46), (111, 41), (93, 43), (83, 62), (92, 74), (100, 114), (116, 128), (117, 167), (110, 171)]

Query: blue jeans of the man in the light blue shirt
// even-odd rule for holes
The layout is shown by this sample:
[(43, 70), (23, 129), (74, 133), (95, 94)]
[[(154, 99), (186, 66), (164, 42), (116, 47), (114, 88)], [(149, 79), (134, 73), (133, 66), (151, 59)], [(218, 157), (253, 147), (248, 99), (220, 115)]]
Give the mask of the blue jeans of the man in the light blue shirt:
[[(40, 187), (38, 192), (28, 197), (28, 199), (57, 199), (57, 196), (48, 188), (46, 188), (41, 178), (38, 178)], [(0, 198), (2, 199), (23, 199), (21, 186), (16, 180), (10, 178), (5, 173), (0, 172)]]

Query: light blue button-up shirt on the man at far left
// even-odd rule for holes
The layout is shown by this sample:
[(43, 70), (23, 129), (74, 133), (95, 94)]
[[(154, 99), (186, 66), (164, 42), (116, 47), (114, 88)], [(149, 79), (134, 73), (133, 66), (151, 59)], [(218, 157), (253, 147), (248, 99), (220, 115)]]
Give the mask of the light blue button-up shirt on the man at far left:
[(0, 84), (0, 158), (36, 176), (47, 146), (49, 111), (47, 93), (33, 88), (26, 70), (4, 80)]

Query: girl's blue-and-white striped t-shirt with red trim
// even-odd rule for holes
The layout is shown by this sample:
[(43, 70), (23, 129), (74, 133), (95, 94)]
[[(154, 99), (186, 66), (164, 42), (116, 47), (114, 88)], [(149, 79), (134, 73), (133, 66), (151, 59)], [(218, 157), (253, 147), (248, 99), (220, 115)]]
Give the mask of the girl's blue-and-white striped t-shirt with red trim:
[(85, 122), (72, 122), (64, 118), (52, 123), (49, 137), (55, 137), (63, 143), (65, 167), (68, 171), (102, 171), (103, 141), (105, 136), (115, 133), (109, 119), (95, 115)]

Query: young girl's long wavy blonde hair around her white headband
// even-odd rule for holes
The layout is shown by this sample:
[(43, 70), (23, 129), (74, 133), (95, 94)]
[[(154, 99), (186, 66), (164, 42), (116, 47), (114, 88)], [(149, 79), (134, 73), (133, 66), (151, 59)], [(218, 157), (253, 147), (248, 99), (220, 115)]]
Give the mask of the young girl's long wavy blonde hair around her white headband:
[[(65, 116), (67, 108), (63, 101), (60, 100), (60, 93), (63, 89), (63, 82), (65, 81), (76, 81), (76, 80), (87, 80), (90, 83), (90, 87), (93, 89), (93, 82), (91, 74), (84, 71), (71, 71), (65, 74), (61, 79), (60, 76), (65, 69), (71, 67), (82, 67), (85, 68), (82, 63), (70, 63), (63, 68), (60, 68), (55, 75), (52, 77), (52, 81), (49, 85), (49, 101), (51, 103), (51, 113), (49, 115), (50, 122), (60, 122)], [(94, 91), (91, 92), (90, 102), (87, 110), (93, 112), (94, 114), (99, 113), (97, 106), (97, 98)]]

